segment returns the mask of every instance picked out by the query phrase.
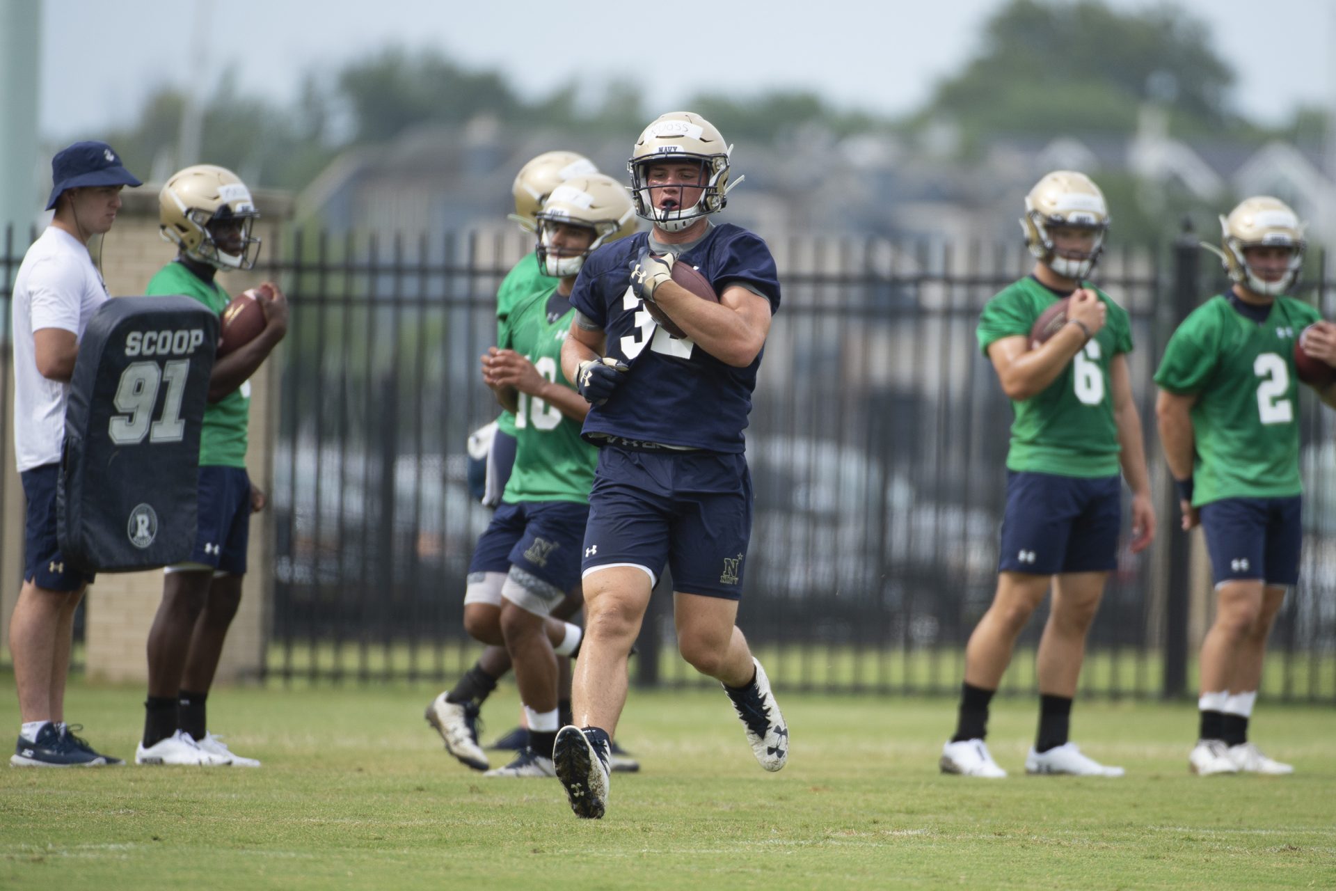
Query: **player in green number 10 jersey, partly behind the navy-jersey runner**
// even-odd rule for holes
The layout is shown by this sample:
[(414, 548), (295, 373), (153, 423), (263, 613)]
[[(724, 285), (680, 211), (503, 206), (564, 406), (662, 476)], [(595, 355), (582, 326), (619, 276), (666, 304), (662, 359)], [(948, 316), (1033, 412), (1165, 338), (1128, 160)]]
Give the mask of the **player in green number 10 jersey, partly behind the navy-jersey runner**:
[(477, 570), (502, 576), (500, 598), (481, 601), (470, 586), (466, 622), (478, 637), (498, 624), (528, 725), (528, 745), (489, 776), (554, 776), (552, 747), (561, 725), (556, 657), (573, 655), (581, 632), (549, 616), (568, 600), (580, 602), (580, 550), (597, 460), (580, 437), (589, 403), (561, 371), (561, 343), (585, 258), (636, 227), (627, 190), (601, 174), (554, 188), (537, 222), (538, 264), (558, 283), (520, 301), (500, 343), (482, 357), (484, 379), (514, 413), (516, 460), (473, 558)]

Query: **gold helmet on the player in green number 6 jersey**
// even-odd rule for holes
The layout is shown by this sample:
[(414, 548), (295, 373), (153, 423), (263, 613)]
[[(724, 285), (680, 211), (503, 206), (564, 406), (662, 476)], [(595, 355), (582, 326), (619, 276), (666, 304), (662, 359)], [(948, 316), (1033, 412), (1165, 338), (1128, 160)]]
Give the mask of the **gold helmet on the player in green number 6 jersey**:
[[(1063, 278), (1085, 278), (1094, 269), (1109, 231), (1109, 206), (1089, 176), (1071, 170), (1047, 174), (1025, 196), (1025, 246), (1041, 263)], [(1093, 228), (1094, 244), (1082, 256), (1059, 256), (1049, 230), (1054, 226)]]

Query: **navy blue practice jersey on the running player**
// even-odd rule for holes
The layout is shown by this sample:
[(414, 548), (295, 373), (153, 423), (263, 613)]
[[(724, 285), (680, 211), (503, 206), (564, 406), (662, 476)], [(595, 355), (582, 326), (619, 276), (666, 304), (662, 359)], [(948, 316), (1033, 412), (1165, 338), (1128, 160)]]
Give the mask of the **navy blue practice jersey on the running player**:
[[(743, 452), (743, 430), (762, 354), (735, 369), (705, 353), (689, 338), (659, 327), (631, 287), (631, 267), (649, 235), (640, 232), (596, 250), (576, 281), (570, 303), (607, 335), (607, 355), (631, 366), (627, 379), (585, 418), (584, 435), (597, 434), (664, 445)], [(731, 224), (712, 227), (683, 251), (689, 263), (721, 294), (741, 285), (779, 310), (775, 258), (759, 236)]]

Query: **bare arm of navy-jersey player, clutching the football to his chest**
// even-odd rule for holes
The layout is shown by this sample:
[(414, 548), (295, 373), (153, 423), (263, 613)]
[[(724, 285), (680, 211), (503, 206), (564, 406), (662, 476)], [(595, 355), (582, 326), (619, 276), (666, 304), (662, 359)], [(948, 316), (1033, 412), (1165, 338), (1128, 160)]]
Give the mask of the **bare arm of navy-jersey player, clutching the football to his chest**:
[(696, 346), (737, 369), (756, 361), (770, 335), (770, 301), (740, 285), (725, 287), (715, 303), (667, 281), (655, 290), (655, 302)]

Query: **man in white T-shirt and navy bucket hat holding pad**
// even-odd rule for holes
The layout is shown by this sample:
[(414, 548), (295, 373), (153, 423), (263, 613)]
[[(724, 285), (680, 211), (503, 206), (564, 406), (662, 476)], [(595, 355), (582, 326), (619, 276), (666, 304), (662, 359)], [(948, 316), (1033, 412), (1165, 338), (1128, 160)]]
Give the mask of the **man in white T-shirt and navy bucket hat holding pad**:
[(120, 190), (139, 186), (111, 146), (80, 142), (51, 162), (51, 226), (28, 248), (13, 283), (13, 438), (27, 498), (23, 588), (9, 652), (23, 727), (16, 767), (120, 764), (64, 721), (75, 608), (92, 581), (65, 565), (56, 540), (56, 478), (69, 379), (88, 319), (110, 295), (88, 239), (116, 222)]

